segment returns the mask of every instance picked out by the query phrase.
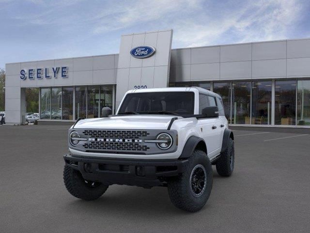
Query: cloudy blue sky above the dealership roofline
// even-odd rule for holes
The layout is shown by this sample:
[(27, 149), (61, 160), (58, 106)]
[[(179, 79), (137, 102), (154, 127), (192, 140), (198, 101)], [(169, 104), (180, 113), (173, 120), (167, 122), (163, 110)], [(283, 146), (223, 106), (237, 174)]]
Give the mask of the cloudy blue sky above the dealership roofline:
[(310, 0), (0, 0), (5, 63), (119, 52), (122, 34), (173, 29), (172, 48), (310, 37)]

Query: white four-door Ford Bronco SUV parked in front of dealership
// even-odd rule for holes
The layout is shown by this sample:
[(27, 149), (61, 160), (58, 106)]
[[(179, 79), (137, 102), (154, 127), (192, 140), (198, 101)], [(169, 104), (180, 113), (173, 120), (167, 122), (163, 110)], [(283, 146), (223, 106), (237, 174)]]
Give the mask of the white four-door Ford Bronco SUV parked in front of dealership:
[(83, 200), (98, 199), (112, 184), (163, 186), (176, 207), (195, 212), (210, 196), (211, 165), (221, 176), (233, 173), (233, 132), (221, 97), (200, 87), (127, 91), (116, 115), (78, 119), (68, 145), (64, 184)]

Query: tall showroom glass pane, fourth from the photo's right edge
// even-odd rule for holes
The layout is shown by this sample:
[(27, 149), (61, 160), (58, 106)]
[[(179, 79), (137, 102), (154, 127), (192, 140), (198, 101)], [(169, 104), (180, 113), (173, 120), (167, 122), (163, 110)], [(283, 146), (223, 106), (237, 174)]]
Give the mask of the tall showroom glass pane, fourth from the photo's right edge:
[(250, 124), (251, 82), (233, 82), (232, 88), (232, 124)]

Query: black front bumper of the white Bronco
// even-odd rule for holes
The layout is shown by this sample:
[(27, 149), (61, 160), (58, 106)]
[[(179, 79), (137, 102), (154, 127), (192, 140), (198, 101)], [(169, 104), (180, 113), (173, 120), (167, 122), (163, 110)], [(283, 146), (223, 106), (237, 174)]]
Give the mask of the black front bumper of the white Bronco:
[(67, 166), (81, 172), (85, 180), (141, 187), (165, 186), (167, 178), (184, 172), (187, 159), (137, 160), (63, 156)]

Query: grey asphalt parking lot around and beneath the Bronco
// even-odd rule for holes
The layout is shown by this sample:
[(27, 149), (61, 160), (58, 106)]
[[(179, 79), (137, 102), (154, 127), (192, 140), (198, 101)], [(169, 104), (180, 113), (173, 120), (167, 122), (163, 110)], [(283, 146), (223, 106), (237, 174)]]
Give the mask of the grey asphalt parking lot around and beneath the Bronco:
[(0, 232), (310, 232), (308, 133), (234, 131), (233, 176), (214, 169), (207, 204), (187, 213), (163, 187), (72, 197), (62, 181), (68, 128), (0, 126)]

